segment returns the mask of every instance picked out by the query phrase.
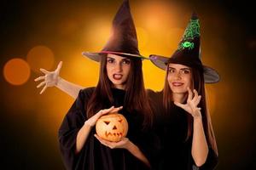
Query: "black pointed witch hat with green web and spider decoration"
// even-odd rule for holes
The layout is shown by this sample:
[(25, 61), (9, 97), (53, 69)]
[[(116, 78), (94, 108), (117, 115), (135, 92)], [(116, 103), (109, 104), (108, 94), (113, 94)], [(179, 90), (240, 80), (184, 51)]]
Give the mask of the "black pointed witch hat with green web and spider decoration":
[(149, 58), (154, 65), (163, 70), (166, 70), (169, 63), (187, 65), (203, 71), (205, 82), (214, 83), (219, 81), (218, 72), (201, 63), (200, 25), (195, 13), (192, 14), (183, 38), (178, 43), (178, 48), (171, 58), (156, 54), (151, 54)]

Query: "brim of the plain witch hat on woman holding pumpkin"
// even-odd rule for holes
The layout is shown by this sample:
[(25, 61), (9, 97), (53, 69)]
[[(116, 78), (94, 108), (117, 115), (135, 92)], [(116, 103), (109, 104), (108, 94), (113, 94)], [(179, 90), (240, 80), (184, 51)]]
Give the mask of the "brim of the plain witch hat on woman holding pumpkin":
[(114, 51), (101, 51), (101, 52), (97, 52), (97, 53), (91, 53), (91, 52), (83, 52), (82, 55), (84, 55), (85, 57), (88, 57), (89, 59), (92, 59), (96, 62), (100, 62), (101, 58), (102, 58), (102, 54), (116, 54), (116, 55), (122, 55), (122, 56), (127, 56), (127, 57), (137, 57), (140, 59), (148, 59), (148, 57), (144, 57), (142, 55), (138, 55), (138, 54), (127, 54), (127, 53), (120, 53), (120, 52), (114, 52)]

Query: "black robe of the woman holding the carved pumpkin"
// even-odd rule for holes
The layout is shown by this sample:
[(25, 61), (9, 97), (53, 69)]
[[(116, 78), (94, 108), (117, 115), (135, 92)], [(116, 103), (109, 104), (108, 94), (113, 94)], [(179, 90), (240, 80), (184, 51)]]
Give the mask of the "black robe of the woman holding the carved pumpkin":
[[(83, 169), (83, 170), (137, 170), (148, 169), (148, 167), (135, 156), (131, 155), (125, 149), (110, 149), (101, 144), (95, 137), (95, 127), (90, 131), (83, 149), (79, 154), (75, 154), (76, 137), (79, 129), (83, 127), (87, 120), (84, 108), (90, 99), (95, 88), (85, 88), (79, 92), (79, 97), (73, 103), (67, 112), (61, 127), (59, 129), (59, 141), (61, 148), (61, 156), (67, 169)], [(112, 89), (114, 106), (124, 105), (125, 91), (120, 89)], [(108, 103), (108, 102), (106, 102)], [(109, 108), (112, 105), (107, 105)], [(105, 109), (105, 108), (99, 108)], [(150, 159), (151, 147), (148, 140), (151, 135), (146, 130), (142, 130), (143, 116), (136, 112), (129, 113), (125, 107), (119, 111), (127, 119), (129, 130), (127, 138), (133, 144), (136, 144), (143, 154)]]

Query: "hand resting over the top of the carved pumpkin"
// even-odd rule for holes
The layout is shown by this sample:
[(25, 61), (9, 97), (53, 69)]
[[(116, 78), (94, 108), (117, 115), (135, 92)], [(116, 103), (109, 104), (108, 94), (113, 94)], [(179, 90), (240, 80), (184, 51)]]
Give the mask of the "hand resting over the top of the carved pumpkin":
[(94, 127), (96, 125), (97, 120), (101, 116), (106, 115), (108, 113), (114, 113), (114, 112), (120, 111), (122, 108), (123, 108), (123, 106), (120, 106), (120, 107), (112, 106), (112, 107), (110, 107), (108, 109), (104, 109), (104, 110), (98, 111), (94, 116), (91, 116), (90, 119), (85, 121), (84, 124), (88, 125), (90, 127)]

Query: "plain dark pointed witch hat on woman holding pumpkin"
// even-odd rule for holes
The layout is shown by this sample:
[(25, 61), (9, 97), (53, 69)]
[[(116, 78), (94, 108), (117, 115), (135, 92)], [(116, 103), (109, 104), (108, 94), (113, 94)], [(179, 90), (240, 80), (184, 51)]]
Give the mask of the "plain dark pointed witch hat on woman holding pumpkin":
[(96, 53), (83, 52), (84, 56), (100, 61), (102, 54), (117, 54), (122, 56), (143, 57), (138, 50), (137, 32), (131, 17), (129, 0), (124, 0), (119, 7), (112, 23), (112, 34), (102, 51)]

